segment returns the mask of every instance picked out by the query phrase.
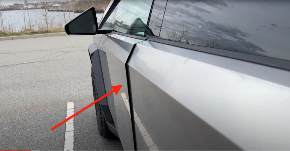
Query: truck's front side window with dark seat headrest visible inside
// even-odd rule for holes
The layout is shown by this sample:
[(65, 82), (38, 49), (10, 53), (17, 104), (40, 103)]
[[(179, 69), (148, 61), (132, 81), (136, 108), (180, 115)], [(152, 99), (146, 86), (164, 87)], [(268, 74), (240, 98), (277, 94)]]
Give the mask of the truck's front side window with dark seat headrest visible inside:
[(101, 29), (144, 36), (153, 0), (121, 0)]

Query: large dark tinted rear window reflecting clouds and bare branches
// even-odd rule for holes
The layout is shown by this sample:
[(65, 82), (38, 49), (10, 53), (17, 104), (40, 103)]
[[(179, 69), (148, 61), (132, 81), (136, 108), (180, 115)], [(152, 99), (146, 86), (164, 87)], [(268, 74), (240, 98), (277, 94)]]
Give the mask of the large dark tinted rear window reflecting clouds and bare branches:
[(159, 38), (290, 60), (290, 1), (168, 0)]

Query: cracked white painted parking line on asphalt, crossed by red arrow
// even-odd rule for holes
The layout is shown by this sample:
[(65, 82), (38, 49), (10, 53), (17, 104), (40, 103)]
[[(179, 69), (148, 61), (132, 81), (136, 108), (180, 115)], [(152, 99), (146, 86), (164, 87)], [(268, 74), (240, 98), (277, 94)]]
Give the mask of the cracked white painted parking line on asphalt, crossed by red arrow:
[[(73, 102), (68, 102), (66, 104), (66, 118), (72, 116), (74, 114), (73, 111)], [(64, 135), (64, 150), (65, 151), (73, 151), (73, 118), (66, 121), (66, 133)]]

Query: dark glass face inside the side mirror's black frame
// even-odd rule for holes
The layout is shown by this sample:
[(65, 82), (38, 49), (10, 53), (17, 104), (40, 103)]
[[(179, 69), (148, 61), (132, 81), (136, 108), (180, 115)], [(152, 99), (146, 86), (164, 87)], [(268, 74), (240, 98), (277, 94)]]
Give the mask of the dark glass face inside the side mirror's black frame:
[[(95, 8), (93, 8), (95, 9)], [(97, 31), (93, 9), (89, 9), (79, 15), (68, 24), (69, 32), (72, 34), (94, 34)]]

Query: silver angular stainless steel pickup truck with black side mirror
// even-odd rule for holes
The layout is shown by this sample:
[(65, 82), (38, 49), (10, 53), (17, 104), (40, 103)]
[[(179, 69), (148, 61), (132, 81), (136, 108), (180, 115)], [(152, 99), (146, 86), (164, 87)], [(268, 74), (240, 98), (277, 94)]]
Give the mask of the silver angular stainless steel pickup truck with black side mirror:
[(290, 150), (290, 1), (112, 0), (65, 30), (95, 99), (123, 85), (95, 108), (125, 150)]

